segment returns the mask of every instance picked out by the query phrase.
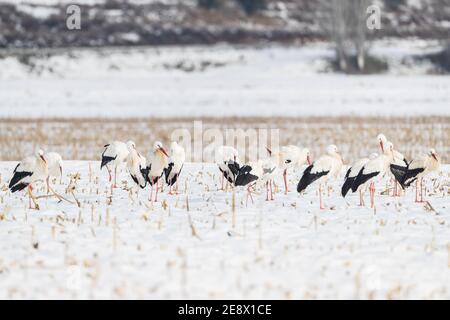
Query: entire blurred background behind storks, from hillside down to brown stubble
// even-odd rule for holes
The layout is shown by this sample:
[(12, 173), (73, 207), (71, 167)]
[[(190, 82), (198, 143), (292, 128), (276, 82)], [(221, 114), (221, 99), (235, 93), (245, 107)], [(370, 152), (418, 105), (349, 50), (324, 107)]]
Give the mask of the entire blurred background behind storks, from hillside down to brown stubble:
[(149, 149), (203, 120), (349, 160), (384, 132), (448, 162), (449, 72), (450, 0), (0, 0), (0, 160)]

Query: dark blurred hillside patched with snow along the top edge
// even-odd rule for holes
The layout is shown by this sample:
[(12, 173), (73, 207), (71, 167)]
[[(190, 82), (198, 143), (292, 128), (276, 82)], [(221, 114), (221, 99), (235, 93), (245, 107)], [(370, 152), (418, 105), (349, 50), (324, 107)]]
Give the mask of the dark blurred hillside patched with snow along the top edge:
[[(0, 48), (301, 43), (325, 37), (321, 0), (73, 2), (82, 3), (81, 31), (67, 30), (65, 0), (25, 0), (19, 4), (0, 0)], [(253, 7), (255, 3), (260, 5)], [(376, 3), (383, 8), (382, 30), (371, 37), (449, 37), (450, 0)]]

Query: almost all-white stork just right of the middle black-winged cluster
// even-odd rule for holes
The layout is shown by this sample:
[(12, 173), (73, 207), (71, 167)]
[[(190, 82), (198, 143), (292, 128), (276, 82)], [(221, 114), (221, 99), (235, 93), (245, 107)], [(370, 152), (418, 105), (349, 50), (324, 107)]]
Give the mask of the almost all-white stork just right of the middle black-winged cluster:
[(275, 158), (278, 168), (283, 171), (284, 190), (285, 194), (288, 193), (287, 183), (287, 170), (295, 167), (301, 167), (304, 164), (311, 165), (311, 158), (309, 155), (309, 149), (299, 148), (294, 145), (288, 145), (281, 147), (281, 151), (272, 152), (269, 148), (266, 148), (269, 154)]

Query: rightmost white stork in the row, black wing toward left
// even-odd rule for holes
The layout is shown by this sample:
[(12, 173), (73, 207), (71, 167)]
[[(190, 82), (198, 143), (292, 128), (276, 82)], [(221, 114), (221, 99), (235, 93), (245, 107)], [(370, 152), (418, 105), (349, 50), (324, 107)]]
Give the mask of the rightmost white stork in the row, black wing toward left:
[[(423, 177), (436, 171), (441, 165), (441, 159), (436, 150), (430, 149), (428, 154), (419, 159), (415, 159), (407, 167), (391, 164), (391, 171), (395, 178), (400, 182), (403, 189), (416, 182), (416, 202), (423, 200)], [(420, 191), (419, 191), (420, 190)], [(420, 195), (420, 199), (419, 199)]]

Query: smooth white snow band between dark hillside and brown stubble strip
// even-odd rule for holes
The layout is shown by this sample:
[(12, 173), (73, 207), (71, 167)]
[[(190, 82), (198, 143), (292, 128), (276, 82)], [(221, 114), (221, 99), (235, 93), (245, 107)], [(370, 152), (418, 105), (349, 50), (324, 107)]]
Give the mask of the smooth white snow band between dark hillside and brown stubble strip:
[(403, 63), (436, 48), (380, 42), (373, 52), (393, 67), (369, 76), (325, 73), (333, 50), (321, 43), (56, 51), (31, 65), (8, 57), (0, 117), (448, 115), (450, 77)]

